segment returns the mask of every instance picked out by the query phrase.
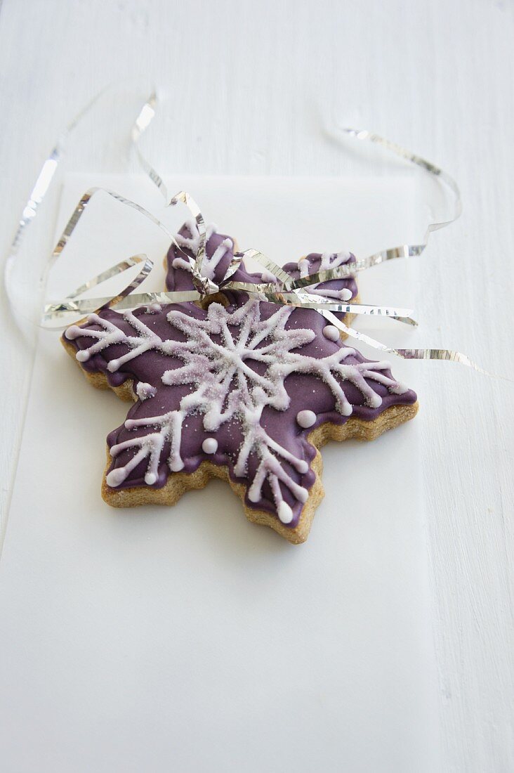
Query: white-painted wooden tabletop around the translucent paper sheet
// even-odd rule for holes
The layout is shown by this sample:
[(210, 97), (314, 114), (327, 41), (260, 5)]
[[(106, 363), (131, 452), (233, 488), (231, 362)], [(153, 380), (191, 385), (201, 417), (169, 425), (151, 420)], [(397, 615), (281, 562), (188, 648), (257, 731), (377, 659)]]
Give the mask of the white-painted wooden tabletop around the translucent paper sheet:
[[(141, 73), (175, 104), (147, 145), (174, 172), (351, 170), (352, 158), (323, 138), (323, 119), (373, 128), (453, 173), (465, 214), (420, 264), (428, 289), (417, 316), (427, 345), (459, 348), (514, 376), (512, 0), (3, 0), (2, 254), (66, 120), (108, 81)], [(31, 352), (4, 296), (0, 315), (5, 526)], [(445, 770), (507, 773), (514, 387), (441, 363), (426, 372), (426, 536)]]

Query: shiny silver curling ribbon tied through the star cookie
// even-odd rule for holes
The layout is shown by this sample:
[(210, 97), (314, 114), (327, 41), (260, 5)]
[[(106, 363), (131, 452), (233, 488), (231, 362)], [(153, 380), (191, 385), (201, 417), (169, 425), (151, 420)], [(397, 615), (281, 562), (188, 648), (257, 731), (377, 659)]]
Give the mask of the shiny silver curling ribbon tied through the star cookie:
[[(68, 124), (66, 130), (63, 132), (63, 135), (61, 135), (59, 141), (56, 143), (55, 148), (53, 148), (53, 151), (50, 153), (49, 157), (46, 159), (46, 162), (43, 164), (43, 168), (39, 173), (36, 184), (32, 189), (29, 201), (27, 202), (23, 211), (22, 219), (20, 220), (15, 239), (12, 242), (12, 247), (9, 253), (6, 267), (6, 274), (9, 272), (9, 269), (12, 266), (12, 260), (19, 250), (19, 245), (21, 243), (22, 237), (25, 235), (26, 227), (28, 226), (29, 222), (36, 216), (39, 204), (43, 201), (43, 198), (46, 195), (46, 192), (48, 191), (52, 182), (53, 175), (56, 171), (56, 166), (59, 163), (63, 152), (63, 139), (70, 134), (70, 131), (72, 131), (74, 126), (77, 125), (77, 123), (80, 121), (80, 118), (83, 117), (87, 111), (89, 111), (90, 107), (95, 104), (102, 93), (103, 92), (97, 94), (97, 96), (94, 97), (94, 99), (83, 108), (83, 111), (81, 111), (80, 114), (78, 114), (73, 119), (73, 121)], [(112, 196), (124, 206), (130, 206), (141, 215), (147, 217), (149, 220), (151, 220), (151, 222), (155, 223), (155, 225), (161, 228), (164, 233), (166, 233), (166, 236), (169, 238), (169, 240), (175, 244), (175, 247), (177, 247), (182, 252), (182, 254), (184, 254), (186, 260), (189, 261), (189, 264), (192, 268), (192, 281), (195, 289), (192, 291), (135, 293), (134, 291), (139, 287), (141, 282), (148, 277), (153, 264), (152, 261), (145, 255), (134, 255), (127, 258), (125, 261), (121, 261), (113, 267), (108, 268), (106, 271), (101, 272), (101, 274), (98, 274), (96, 277), (81, 285), (80, 288), (77, 288), (77, 290), (70, 293), (63, 300), (46, 304), (44, 307), (43, 318), (41, 320), (43, 327), (48, 326), (49, 322), (61, 320), (62, 318), (66, 318), (66, 316), (69, 315), (83, 315), (90, 312), (100, 312), (104, 308), (112, 308), (114, 306), (121, 310), (124, 308), (135, 308), (136, 306), (141, 305), (151, 305), (152, 303), (162, 304), (181, 303), (184, 301), (198, 301), (206, 295), (213, 295), (220, 290), (244, 291), (251, 296), (259, 298), (260, 300), (270, 301), (272, 303), (276, 303), (277, 305), (291, 305), (299, 308), (315, 309), (329, 322), (331, 322), (332, 325), (335, 325), (335, 327), (344, 332), (346, 335), (362, 341), (368, 346), (372, 346), (374, 349), (388, 352), (403, 359), (440, 359), (451, 362), (458, 362), (477, 370), (479, 373), (492, 375), (482, 369), (480, 366), (476, 365), (476, 363), (474, 363), (465, 354), (454, 350), (393, 349), (392, 347), (386, 346), (380, 341), (376, 341), (375, 339), (369, 337), (369, 335), (349, 327), (349, 325), (346, 325), (344, 322), (339, 320), (334, 313), (342, 312), (361, 315), (386, 316), (400, 322), (416, 325), (417, 323), (410, 317), (410, 314), (412, 313), (410, 309), (392, 308), (389, 306), (325, 302), (320, 300), (318, 295), (312, 295), (305, 289), (311, 287), (313, 284), (331, 281), (334, 279), (353, 277), (355, 274), (359, 273), (359, 271), (365, 271), (370, 267), (379, 265), (386, 261), (397, 260), (397, 258), (400, 257), (414, 257), (422, 254), (427, 247), (427, 242), (431, 233), (434, 230), (444, 228), (445, 226), (454, 223), (454, 221), (457, 220), (461, 215), (461, 194), (457, 183), (454, 181), (451, 175), (448, 175), (447, 172), (444, 172), (444, 170), (440, 169), (431, 162), (428, 162), (426, 159), (421, 158), (419, 155), (407, 151), (406, 148), (403, 148), (396, 143), (380, 137), (380, 135), (373, 134), (372, 132), (366, 130), (343, 128), (341, 131), (346, 135), (361, 141), (369, 141), (371, 143), (380, 145), (383, 148), (386, 148), (386, 150), (400, 156), (400, 158), (407, 160), (407, 162), (417, 165), (420, 167), (420, 169), (423, 169), (428, 174), (443, 182), (454, 196), (453, 216), (451, 216), (451, 218), (448, 220), (429, 223), (425, 233), (424, 241), (420, 244), (402, 244), (398, 247), (391, 247), (386, 250), (380, 250), (380, 252), (370, 255), (366, 258), (361, 258), (352, 264), (342, 264), (341, 266), (335, 268), (318, 271), (316, 274), (311, 274), (304, 278), (291, 277), (291, 275), (284, 271), (282, 267), (274, 264), (273, 261), (267, 258), (264, 254), (260, 253), (258, 250), (246, 250), (244, 252), (239, 252), (234, 255), (233, 261), (231, 261), (230, 266), (228, 267), (226, 274), (223, 277), (223, 280), (220, 281), (220, 284), (216, 284), (216, 282), (214, 282), (212, 279), (209, 279), (202, 274), (203, 260), (206, 251), (206, 226), (199, 206), (196, 204), (194, 199), (192, 199), (192, 196), (190, 196), (189, 193), (185, 191), (181, 191), (175, 196), (169, 198), (168, 191), (166, 189), (165, 183), (163, 182), (162, 176), (158, 174), (154, 167), (147, 161), (145, 155), (143, 155), (141, 152), (139, 143), (141, 137), (145, 134), (148, 126), (151, 124), (153, 117), (155, 117), (156, 105), (157, 97), (155, 92), (152, 92), (150, 97), (148, 97), (148, 100), (141, 107), (141, 111), (139, 112), (138, 117), (134, 121), (134, 125), (131, 129), (132, 146), (138, 155), (138, 160), (141, 164), (141, 167), (145, 170), (149, 179), (151, 179), (151, 182), (153, 182), (155, 186), (157, 186), (157, 188), (161, 191), (162, 196), (165, 199), (165, 206), (176, 206), (177, 204), (182, 203), (187, 207), (187, 209), (189, 209), (189, 213), (191, 213), (192, 218), (195, 220), (199, 233), (199, 247), (196, 251), (195, 257), (192, 258), (189, 256), (189, 254), (186, 254), (184, 250), (182, 250), (182, 248), (179, 247), (179, 245), (176, 243), (173, 234), (170, 233), (163, 225), (163, 223), (161, 223), (154, 215), (149, 213), (148, 210), (144, 209), (137, 203), (132, 202), (130, 199), (126, 199), (124, 196), (120, 196), (116, 192), (107, 189), (94, 188), (85, 192), (79, 203), (77, 203), (77, 206), (73, 211), (73, 215), (66, 224), (63, 234), (61, 235), (56, 244), (56, 247), (53, 250), (49, 261), (49, 267), (51, 267), (56, 261), (56, 258), (62, 254), (92, 196), (94, 196), (96, 192), (103, 190), (105, 193), (107, 193), (109, 196)], [(254, 261), (257, 261), (257, 263), (263, 266), (267, 271), (270, 271), (272, 274), (274, 274), (276, 281), (262, 282), (260, 284), (230, 281), (230, 277), (232, 277), (235, 271), (237, 271), (240, 262), (244, 258), (252, 258)], [(141, 264), (138, 274), (116, 296), (107, 296), (105, 298), (80, 298), (80, 295), (83, 295), (86, 291), (90, 290), (90, 288), (102, 284), (104, 281), (107, 281), (107, 279), (110, 279), (115, 275), (128, 270), (136, 264)], [(63, 326), (66, 327), (66, 325)]]

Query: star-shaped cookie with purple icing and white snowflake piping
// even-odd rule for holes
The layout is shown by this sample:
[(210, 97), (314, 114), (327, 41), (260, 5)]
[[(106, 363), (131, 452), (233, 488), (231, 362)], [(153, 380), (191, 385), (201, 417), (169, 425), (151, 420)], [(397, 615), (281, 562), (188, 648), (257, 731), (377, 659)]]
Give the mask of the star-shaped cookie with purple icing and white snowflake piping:
[[(223, 275), (231, 250), (211, 231), (206, 274)], [(187, 278), (178, 260), (173, 289)], [(90, 382), (134, 401), (107, 437), (102, 495), (117, 507), (172, 505), (224, 478), (250, 521), (300, 543), (323, 495), (318, 448), (376, 438), (414, 417), (416, 395), (314, 310), (234, 291), (224, 300), (108, 309), (66, 329), (63, 344)]]

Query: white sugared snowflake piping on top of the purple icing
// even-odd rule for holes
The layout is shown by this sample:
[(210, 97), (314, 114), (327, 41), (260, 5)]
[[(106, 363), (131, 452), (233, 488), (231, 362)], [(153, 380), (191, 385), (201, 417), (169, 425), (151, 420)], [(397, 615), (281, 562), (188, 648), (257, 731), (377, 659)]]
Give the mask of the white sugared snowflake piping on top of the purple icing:
[[(262, 506), (267, 500), (268, 508), (271, 503), (282, 523), (294, 526), (298, 523), (301, 506), (308, 499), (313, 475), (297, 446), (291, 451), (287, 443), (273, 437), (270, 427), (262, 421), (264, 410), (276, 411), (277, 423), (281, 416), (291, 421), (287, 415), (291, 410), (288, 376), (305, 374), (325, 384), (332, 395), (332, 410), (339, 414), (341, 422), (353, 410), (345, 385), (351, 385), (352, 393), (358, 390), (361, 403), (371, 409), (379, 408), (383, 402), (380, 391), (384, 393), (384, 390), (377, 388), (379, 385), (396, 395), (406, 393), (407, 387), (390, 376), (389, 363), (368, 362), (340, 341), (328, 343), (325, 339), (325, 349), (329, 347), (330, 350), (325, 354), (324, 349), (323, 356), (302, 352), (315, 341), (316, 332), (311, 327), (288, 323), (294, 322), (294, 315), (301, 322), (321, 319), (318, 312), (288, 307), (277, 309), (255, 300), (235, 308), (211, 303), (206, 311), (195, 307), (192, 312), (191, 307), (182, 304), (146, 310), (158, 318), (165, 315), (169, 338), (145, 324), (141, 318), (144, 310), (125, 312), (124, 315), (109, 312), (111, 319), (90, 315), (87, 325), (72, 325), (66, 330), (68, 341), (78, 339), (76, 356), (86, 369), (91, 360), (97, 363), (100, 356), (104, 358), (102, 362), (107, 373), (128, 373), (141, 383), (141, 373), (135, 374), (130, 368), (136, 361), (143, 363), (148, 352), (155, 352), (171, 357), (175, 365), (162, 369), (160, 384), (180, 386), (182, 392), (184, 386), (189, 387), (181, 397), (173, 398), (170, 410), (142, 417), (136, 411), (137, 417), (128, 417), (124, 423), (124, 431), (128, 432), (124, 434), (129, 437), (111, 444), (114, 466), (111, 465), (107, 474), (107, 485), (113, 488), (134, 485), (131, 473), (137, 472), (141, 464), (146, 465), (144, 482), (149, 486), (162, 485), (159, 474), (163, 463), (170, 472), (184, 469), (188, 458), (184, 452), (183, 430), (190, 417), (201, 417), (205, 437), (201, 448), (204, 455), (209, 455), (215, 462), (217, 452), (223, 451), (218, 448), (216, 435), (223, 427), (237, 424), (242, 440), (231, 455), (233, 476), (246, 483), (251, 506)], [(162, 331), (162, 327), (159, 330)], [(111, 346), (116, 349), (112, 359), (107, 351)], [(121, 355), (117, 353), (120, 346), (124, 352)], [(99, 369), (97, 364), (93, 369)], [(144, 370), (142, 366), (141, 369)], [(143, 400), (145, 404), (158, 402), (159, 383), (155, 380), (154, 383), (145, 380), (136, 391), (139, 405)], [(152, 399), (148, 400), (148, 397)], [(318, 421), (318, 416), (311, 410), (298, 412), (297, 432), (305, 435), (314, 421), (305, 424), (301, 414), (311, 414), (314, 421)], [(226, 464), (226, 449), (223, 454), (217, 463)], [(121, 464), (117, 466), (121, 458)]]

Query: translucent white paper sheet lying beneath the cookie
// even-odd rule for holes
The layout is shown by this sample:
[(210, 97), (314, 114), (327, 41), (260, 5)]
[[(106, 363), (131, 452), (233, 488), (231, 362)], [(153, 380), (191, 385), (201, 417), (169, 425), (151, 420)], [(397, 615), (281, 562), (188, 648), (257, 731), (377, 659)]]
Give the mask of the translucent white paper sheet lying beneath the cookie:
[[(97, 182), (155, 203), (145, 180)], [(66, 186), (60, 224), (89, 185)], [(263, 180), (179, 185), (243, 248), (258, 214), (281, 262), (315, 248), (313, 221), (335, 248), (341, 211), (363, 254), (423, 230), (410, 178), (275, 178), (280, 220)], [(113, 232), (120, 257), (144, 247), (160, 263), (166, 238), (133, 211), (104, 203), (86, 216), (54, 286), (66, 269), (71, 287), (112, 262)], [(39, 335), (0, 563), (2, 769), (141, 771), (150, 750), (158, 771), (439, 769), (422, 425), (325, 448), (325, 500), (295, 547), (247, 523), (220, 482), (173, 509), (109, 509), (104, 438), (127, 408), (91, 389), (58, 335)]]

